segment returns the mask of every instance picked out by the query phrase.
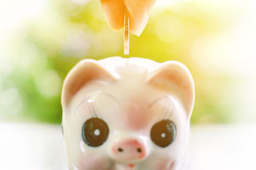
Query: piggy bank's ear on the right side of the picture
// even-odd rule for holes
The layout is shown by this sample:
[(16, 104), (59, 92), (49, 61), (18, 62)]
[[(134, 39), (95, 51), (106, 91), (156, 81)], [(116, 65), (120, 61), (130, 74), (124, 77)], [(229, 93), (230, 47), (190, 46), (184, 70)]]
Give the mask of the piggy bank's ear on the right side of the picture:
[(177, 95), (185, 106), (188, 118), (195, 101), (194, 81), (188, 68), (177, 61), (164, 62), (150, 73), (148, 83), (168, 93)]

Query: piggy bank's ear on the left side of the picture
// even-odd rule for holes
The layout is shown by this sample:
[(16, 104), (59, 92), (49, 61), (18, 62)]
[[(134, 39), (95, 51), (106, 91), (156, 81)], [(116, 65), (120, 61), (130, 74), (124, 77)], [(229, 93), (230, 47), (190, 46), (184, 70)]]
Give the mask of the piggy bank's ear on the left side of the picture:
[(63, 108), (68, 106), (72, 97), (81, 87), (93, 80), (116, 81), (106, 69), (97, 64), (96, 60), (84, 59), (77, 63), (67, 74), (63, 83), (61, 92), (61, 104)]

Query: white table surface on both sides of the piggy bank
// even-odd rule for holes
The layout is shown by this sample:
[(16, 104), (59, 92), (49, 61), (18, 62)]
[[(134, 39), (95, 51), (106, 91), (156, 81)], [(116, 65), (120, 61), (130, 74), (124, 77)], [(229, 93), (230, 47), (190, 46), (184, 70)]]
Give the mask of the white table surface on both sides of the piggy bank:
[[(187, 170), (255, 170), (256, 125), (192, 125)], [(67, 170), (60, 125), (0, 123), (1, 170)]]

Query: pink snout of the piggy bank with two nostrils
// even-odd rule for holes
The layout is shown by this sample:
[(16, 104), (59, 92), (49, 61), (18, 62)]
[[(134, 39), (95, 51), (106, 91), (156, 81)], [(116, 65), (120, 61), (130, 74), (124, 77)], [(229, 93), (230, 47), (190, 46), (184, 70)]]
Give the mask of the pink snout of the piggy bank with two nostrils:
[(120, 161), (140, 160), (146, 157), (146, 146), (136, 139), (118, 141), (111, 148), (113, 159)]

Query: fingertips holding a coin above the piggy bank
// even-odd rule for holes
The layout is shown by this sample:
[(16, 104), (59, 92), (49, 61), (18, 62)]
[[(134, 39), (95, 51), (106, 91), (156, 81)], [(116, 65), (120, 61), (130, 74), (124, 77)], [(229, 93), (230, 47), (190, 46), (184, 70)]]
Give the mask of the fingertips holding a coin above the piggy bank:
[(112, 29), (124, 27), (125, 8), (129, 12), (130, 32), (140, 36), (148, 22), (150, 9), (156, 0), (100, 0), (108, 24)]

